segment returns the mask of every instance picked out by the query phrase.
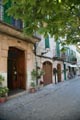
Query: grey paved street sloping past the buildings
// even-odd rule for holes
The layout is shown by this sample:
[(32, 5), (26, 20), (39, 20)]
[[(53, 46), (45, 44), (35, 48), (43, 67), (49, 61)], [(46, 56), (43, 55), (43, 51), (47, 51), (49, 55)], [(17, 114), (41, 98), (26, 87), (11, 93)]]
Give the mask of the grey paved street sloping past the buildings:
[(80, 77), (0, 104), (0, 120), (80, 120)]

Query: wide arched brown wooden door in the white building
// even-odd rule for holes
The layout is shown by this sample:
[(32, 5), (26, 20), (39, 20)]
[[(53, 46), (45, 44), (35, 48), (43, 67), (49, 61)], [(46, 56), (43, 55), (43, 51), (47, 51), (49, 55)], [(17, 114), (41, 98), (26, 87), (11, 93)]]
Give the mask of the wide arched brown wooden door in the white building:
[(46, 61), (43, 63), (43, 70), (45, 75), (43, 76), (44, 85), (52, 83), (52, 63)]

